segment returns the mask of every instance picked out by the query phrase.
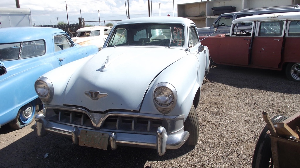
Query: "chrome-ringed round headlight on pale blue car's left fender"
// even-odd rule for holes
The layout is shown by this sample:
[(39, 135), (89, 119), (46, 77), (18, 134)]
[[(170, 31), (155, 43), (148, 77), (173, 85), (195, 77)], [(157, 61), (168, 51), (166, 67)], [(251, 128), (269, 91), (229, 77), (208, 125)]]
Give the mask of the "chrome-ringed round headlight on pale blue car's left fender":
[(43, 103), (50, 103), (54, 93), (51, 81), (46, 77), (39, 77), (35, 81), (35, 92)]

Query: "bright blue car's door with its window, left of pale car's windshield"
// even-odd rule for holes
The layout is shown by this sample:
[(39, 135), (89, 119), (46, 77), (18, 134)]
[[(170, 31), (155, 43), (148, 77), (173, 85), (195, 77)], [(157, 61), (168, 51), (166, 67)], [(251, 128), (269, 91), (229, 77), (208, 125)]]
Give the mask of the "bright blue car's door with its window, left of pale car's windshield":
[(60, 65), (67, 64), (83, 58), (82, 51), (76, 47), (70, 37), (66, 34), (55, 34), (53, 36), (54, 54)]

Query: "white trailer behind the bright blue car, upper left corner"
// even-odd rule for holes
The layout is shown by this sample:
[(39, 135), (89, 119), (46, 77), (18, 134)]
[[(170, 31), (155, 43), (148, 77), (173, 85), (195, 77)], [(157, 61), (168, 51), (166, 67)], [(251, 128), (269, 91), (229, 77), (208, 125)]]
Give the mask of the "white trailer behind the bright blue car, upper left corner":
[(32, 26), (31, 10), (0, 8), (0, 28)]

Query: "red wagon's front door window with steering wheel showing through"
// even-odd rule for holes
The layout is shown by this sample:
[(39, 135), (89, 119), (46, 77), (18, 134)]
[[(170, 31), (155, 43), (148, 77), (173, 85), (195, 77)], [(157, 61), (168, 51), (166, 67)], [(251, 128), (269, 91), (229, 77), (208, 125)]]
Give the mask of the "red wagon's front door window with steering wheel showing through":
[[(252, 22), (245, 22), (245, 23), (237, 23), (232, 25), (232, 32), (231, 36), (251, 36), (252, 31)], [(249, 25), (249, 26), (245, 26)], [(248, 29), (248, 28), (251, 29)]]

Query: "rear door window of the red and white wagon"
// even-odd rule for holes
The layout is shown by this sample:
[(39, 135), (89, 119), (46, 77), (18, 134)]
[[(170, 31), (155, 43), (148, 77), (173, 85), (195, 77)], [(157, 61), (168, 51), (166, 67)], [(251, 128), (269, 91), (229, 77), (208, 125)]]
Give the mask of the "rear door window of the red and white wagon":
[(258, 36), (281, 36), (283, 21), (260, 22)]

